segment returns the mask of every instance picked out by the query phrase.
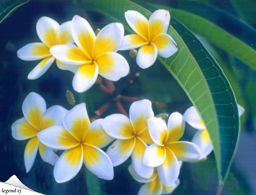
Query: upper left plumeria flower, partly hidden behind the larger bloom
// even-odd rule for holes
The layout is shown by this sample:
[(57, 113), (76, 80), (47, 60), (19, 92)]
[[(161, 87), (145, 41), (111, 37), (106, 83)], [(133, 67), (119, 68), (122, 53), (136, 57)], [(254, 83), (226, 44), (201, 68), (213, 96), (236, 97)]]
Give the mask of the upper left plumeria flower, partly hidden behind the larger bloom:
[[(22, 60), (33, 61), (43, 59), (27, 76), (28, 79), (37, 79), (50, 68), (55, 58), (50, 48), (57, 44), (73, 44), (71, 21), (59, 25), (54, 19), (41, 17), (36, 24), (36, 32), (42, 43), (31, 43), (17, 51)], [(63, 70), (76, 72), (77, 67), (61, 63), (56, 60), (57, 66)]]

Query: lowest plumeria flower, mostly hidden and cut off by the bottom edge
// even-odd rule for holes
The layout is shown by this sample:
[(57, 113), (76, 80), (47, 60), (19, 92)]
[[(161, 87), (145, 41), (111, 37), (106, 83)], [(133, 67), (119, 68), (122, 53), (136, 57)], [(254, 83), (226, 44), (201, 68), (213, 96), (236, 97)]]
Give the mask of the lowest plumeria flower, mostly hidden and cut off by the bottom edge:
[(154, 169), (153, 175), (148, 179), (139, 176), (132, 164), (128, 167), (128, 170), (137, 182), (145, 183), (141, 186), (138, 195), (168, 195), (171, 194), (180, 184), (180, 180), (177, 179), (170, 187), (164, 185), (157, 175), (156, 168)]

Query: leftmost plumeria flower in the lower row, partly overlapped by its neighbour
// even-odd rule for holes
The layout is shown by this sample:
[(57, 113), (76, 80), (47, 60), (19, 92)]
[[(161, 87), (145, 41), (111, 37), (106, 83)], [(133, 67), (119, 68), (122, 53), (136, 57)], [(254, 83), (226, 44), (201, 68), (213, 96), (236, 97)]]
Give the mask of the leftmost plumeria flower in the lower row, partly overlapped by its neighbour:
[(67, 109), (58, 105), (46, 109), (45, 100), (39, 94), (31, 92), (23, 101), (22, 111), (24, 117), (13, 123), (12, 135), (17, 140), (29, 139), (24, 152), (27, 172), (34, 164), (38, 148), (42, 159), (54, 165), (58, 156), (53, 149), (39, 141), (37, 134), (50, 126), (61, 125)]

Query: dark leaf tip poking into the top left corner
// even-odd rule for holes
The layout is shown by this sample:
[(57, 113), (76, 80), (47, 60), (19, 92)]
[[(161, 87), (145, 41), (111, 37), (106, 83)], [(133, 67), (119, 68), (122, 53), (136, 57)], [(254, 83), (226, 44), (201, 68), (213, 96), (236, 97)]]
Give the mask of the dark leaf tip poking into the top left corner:
[(19, 6), (27, 3), (29, 0), (1, 0), (0, 1), (0, 22), (7, 17), (7, 15), (17, 9)]

